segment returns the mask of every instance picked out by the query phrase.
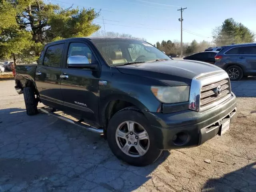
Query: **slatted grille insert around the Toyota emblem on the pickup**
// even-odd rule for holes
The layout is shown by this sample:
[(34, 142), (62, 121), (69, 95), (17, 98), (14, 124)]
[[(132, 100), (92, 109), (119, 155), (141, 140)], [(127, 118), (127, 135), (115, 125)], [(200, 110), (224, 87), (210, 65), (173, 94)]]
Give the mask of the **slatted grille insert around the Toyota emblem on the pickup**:
[[(216, 94), (216, 91), (214, 91), (215, 88), (217, 88), (218, 86), (222, 87), (221, 94)], [(200, 106), (205, 106), (206, 104), (210, 104), (216, 100), (220, 100), (221, 98), (224, 98), (224, 96), (230, 93), (231, 90), (229, 79), (224, 79), (219, 82), (203, 86), (201, 88)]]

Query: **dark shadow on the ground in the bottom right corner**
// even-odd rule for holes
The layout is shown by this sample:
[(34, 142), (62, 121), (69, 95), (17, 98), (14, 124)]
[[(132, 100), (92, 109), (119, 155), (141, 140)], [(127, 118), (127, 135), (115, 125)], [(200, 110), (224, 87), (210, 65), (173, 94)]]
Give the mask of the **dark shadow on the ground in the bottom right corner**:
[(202, 192), (253, 192), (256, 191), (256, 162), (228, 173), (219, 179), (209, 179)]

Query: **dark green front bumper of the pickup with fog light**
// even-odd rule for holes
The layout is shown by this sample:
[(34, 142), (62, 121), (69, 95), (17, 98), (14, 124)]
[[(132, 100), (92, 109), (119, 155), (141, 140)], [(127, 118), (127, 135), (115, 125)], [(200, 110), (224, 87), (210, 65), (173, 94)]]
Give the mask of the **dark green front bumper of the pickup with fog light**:
[(170, 114), (145, 112), (156, 144), (161, 150), (198, 146), (220, 133), (221, 125), (236, 113), (234, 93), (223, 103), (196, 112), (184, 110)]

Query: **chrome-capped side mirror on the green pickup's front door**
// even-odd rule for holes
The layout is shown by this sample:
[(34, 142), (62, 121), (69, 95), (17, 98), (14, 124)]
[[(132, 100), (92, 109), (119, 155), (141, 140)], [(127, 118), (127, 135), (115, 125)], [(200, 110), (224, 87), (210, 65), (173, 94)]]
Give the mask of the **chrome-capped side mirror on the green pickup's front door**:
[(68, 57), (67, 67), (97, 70), (98, 64), (91, 64), (86, 56), (76, 55)]

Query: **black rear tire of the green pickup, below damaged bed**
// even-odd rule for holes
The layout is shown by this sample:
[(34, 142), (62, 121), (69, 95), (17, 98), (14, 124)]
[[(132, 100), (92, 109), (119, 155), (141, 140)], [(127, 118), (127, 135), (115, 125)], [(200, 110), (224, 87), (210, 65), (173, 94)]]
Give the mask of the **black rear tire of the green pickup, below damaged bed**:
[(25, 101), (27, 115), (38, 114), (37, 102), (36, 102), (33, 88), (25, 87), (23, 89), (23, 95), (24, 95), (24, 101)]

